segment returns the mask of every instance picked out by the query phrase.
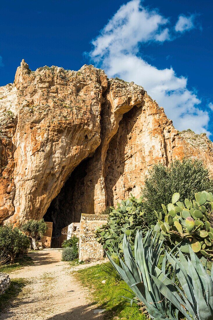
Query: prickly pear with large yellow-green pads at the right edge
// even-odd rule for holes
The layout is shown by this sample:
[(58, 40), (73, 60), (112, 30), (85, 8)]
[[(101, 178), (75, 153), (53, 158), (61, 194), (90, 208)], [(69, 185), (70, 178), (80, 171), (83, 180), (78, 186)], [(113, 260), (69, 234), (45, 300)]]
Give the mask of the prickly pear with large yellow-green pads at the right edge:
[(179, 197), (179, 193), (174, 193), (167, 208), (162, 204), (164, 221), (161, 212), (155, 211), (158, 222), (152, 226), (154, 233), (166, 237), (170, 249), (180, 244), (180, 250), (188, 253), (189, 244), (198, 255), (213, 260), (213, 228), (208, 219), (213, 210), (212, 193), (195, 193), (193, 202), (185, 199), (182, 203), (178, 201)]

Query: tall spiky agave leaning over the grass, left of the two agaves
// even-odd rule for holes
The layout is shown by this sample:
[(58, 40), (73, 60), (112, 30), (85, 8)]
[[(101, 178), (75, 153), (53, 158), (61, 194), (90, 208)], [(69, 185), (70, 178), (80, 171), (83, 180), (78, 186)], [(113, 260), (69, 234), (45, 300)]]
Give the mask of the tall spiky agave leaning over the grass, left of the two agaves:
[[(124, 262), (120, 259), (121, 267), (113, 261), (108, 252), (106, 254), (122, 279), (145, 305), (151, 319), (178, 320), (179, 310), (187, 318), (185, 309), (183, 307), (174, 308), (170, 300), (160, 292), (154, 281), (159, 275), (157, 266), (162, 262), (162, 244), (163, 240), (160, 241), (156, 236), (152, 237), (152, 231), (147, 232), (144, 238), (138, 231), (135, 237), (135, 257), (133, 257), (131, 244), (126, 235), (123, 239)], [(120, 256), (118, 252), (117, 254)], [(166, 274), (167, 272), (165, 259), (163, 259), (162, 273)]]

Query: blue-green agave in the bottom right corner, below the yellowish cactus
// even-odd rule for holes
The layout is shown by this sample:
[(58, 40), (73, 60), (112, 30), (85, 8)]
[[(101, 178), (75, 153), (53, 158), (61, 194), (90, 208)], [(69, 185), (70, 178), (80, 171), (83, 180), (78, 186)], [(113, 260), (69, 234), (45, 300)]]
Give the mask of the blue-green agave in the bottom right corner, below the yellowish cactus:
[[(157, 267), (155, 272), (158, 276), (152, 278), (161, 294), (181, 312), (184, 307), (193, 319), (213, 320), (213, 268), (209, 276), (190, 246), (189, 253), (191, 260), (189, 257), (186, 259), (180, 250), (179, 259), (166, 252), (164, 264), (166, 260), (171, 264), (173, 278), (170, 279)], [(175, 276), (182, 289), (175, 284)], [(189, 314), (185, 315), (187, 319), (191, 319)]]

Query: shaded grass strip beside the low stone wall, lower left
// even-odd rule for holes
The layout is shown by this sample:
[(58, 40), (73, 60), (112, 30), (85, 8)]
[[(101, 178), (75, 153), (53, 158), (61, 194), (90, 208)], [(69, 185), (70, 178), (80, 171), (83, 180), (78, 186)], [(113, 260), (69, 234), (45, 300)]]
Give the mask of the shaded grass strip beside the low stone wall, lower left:
[(11, 305), (12, 300), (14, 300), (18, 296), (27, 282), (28, 281), (26, 279), (22, 278), (11, 280), (9, 288), (0, 297), (0, 311), (2, 311), (3, 308), (7, 307), (8, 305)]

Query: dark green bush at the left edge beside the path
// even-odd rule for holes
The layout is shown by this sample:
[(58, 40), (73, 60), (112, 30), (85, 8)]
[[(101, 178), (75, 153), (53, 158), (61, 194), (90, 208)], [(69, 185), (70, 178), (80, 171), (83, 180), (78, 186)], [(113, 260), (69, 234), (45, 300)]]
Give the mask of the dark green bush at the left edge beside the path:
[(21, 249), (27, 249), (29, 245), (28, 237), (12, 224), (0, 226), (0, 252), (4, 252), (4, 259), (7, 256), (14, 262)]

